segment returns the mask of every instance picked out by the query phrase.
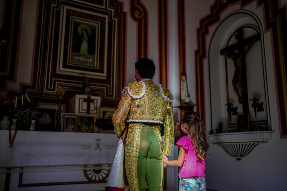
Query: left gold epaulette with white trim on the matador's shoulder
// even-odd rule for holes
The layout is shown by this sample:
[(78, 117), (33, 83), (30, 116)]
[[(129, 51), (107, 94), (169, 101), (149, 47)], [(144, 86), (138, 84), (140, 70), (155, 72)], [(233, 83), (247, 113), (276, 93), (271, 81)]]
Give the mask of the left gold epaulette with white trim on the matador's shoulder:
[(125, 90), (128, 91), (132, 98), (142, 98), (146, 93), (146, 85), (142, 81), (135, 81), (133, 83), (129, 83), (128, 86), (123, 89), (122, 94), (125, 92)]

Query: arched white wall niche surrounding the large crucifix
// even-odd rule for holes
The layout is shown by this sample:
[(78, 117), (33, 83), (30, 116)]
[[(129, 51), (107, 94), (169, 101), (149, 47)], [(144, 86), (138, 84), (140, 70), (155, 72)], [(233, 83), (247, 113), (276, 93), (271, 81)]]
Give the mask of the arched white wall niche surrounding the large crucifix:
[[(227, 104), (233, 103), (237, 107), (237, 112), (241, 114), (242, 104), (236, 96), (232, 86), (235, 67), (233, 61), (225, 55), (220, 55), (220, 50), (237, 43), (235, 39), (236, 30), (242, 28), (243, 38), (246, 39), (260, 33), (260, 40), (256, 41), (246, 54), (246, 76), (248, 99), (253, 97), (260, 98), (263, 102), (263, 112), (255, 113), (252, 102), (248, 102), (251, 126), (257, 128), (260, 124), (266, 126), (270, 124), (270, 111), (268, 100), (268, 87), (266, 76), (264, 31), (259, 18), (248, 10), (236, 10), (225, 16), (218, 24), (211, 37), (208, 49), (208, 75), (209, 75), (209, 106), (210, 125), (215, 132), (218, 122), (223, 122), (225, 132), (235, 128), (236, 115), (228, 116)], [(247, 46), (245, 46), (247, 48)], [(235, 50), (234, 52), (238, 52)], [(208, 103), (208, 102), (207, 102)], [(208, 118), (207, 118), (208, 120)], [(229, 127), (229, 128), (228, 128)]]

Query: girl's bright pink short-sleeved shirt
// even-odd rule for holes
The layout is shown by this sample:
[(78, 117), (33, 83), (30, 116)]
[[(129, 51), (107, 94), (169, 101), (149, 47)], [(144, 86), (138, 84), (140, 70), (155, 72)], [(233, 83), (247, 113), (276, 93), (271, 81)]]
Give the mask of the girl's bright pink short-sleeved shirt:
[(191, 144), (191, 138), (189, 136), (181, 137), (177, 143), (178, 149), (183, 146), (185, 149), (184, 161), (181, 167), (179, 167), (178, 176), (181, 178), (191, 177), (191, 176), (201, 176), (204, 177), (205, 160), (198, 161), (195, 150)]

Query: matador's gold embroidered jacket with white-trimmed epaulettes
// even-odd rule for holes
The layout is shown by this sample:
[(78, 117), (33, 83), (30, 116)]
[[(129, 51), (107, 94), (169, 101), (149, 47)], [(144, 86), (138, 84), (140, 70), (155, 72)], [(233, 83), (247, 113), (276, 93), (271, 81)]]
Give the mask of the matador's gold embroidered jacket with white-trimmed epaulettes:
[(117, 136), (120, 138), (125, 128), (125, 120), (128, 123), (163, 124), (162, 152), (169, 156), (174, 133), (172, 100), (169, 89), (161, 84), (154, 84), (151, 80), (129, 83), (123, 89), (120, 103), (112, 117)]

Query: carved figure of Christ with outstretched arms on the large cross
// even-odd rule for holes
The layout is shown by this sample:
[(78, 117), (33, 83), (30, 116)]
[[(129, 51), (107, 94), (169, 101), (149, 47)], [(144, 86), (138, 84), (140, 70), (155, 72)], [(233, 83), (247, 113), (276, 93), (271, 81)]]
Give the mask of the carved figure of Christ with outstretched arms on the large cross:
[(232, 78), (232, 86), (236, 95), (238, 96), (240, 104), (242, 104), (244, 98), (243, 81), (246, 78), (245, 56), (246, 53), (253, 46), (254, 42), (257, 40), (257, 36), (258, 35), (254, 36), (254, 40), (248, 45), (248, 47), (242, 53), (227, 52), (225, 49), (223, 49), (225, 55), (233, 60), (235, 72)]

